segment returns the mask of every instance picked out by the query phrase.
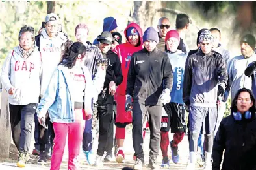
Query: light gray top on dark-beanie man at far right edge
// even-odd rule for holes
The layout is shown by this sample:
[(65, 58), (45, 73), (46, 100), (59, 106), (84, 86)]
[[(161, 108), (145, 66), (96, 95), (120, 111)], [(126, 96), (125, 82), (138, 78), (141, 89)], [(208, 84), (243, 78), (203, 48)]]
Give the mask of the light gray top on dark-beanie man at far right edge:
[(251, 77), (244, 74), (244, 70), (252, 62), (256, 61), (256, 54), (250, 58), (245, 58), (244, 56), (236, 56), (232, 58), (227, 66), (227, 72), (229, 73), (229, 87), (231, 87), (231, 100), (235, 97), (237, 90), (246, 87), (251, 89)]

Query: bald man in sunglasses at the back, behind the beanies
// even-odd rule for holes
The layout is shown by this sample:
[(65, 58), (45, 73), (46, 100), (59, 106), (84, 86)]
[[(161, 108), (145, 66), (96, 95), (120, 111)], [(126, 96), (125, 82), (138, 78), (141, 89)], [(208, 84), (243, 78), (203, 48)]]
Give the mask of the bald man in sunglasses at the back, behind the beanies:
[(157, 44), (157, 48), (162, 52), (165, 51), (165, 37), (167, 32), (170, 30), (170, 21), (167, 17), (161, 17), (159, 19), (159, 23), (157, 25), (157, 29), (159, 30), (159, 43)]

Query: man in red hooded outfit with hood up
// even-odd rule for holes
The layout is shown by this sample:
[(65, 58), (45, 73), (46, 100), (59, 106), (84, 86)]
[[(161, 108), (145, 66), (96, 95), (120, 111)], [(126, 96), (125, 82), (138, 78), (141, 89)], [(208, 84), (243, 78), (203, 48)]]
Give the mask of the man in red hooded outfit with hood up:
[(116, 90), (116, 143), (118, 151), (116, 153), (116, 162), (122, 163), (125, 155), (123, 154), (123, 142), (125, 140), (125, 127), (132, 122), (131, 112), (126, 112), (125, 108), (125, 90), (127, 84), (127, 75), (130, 65), (131, 56), (134, 52), (143, 49), (142, 29), (136, 23), (130, 23), (124, 31), (126, 43), (117, 45), (114, 50), (121, 61), (123, 72), (123, 82)]

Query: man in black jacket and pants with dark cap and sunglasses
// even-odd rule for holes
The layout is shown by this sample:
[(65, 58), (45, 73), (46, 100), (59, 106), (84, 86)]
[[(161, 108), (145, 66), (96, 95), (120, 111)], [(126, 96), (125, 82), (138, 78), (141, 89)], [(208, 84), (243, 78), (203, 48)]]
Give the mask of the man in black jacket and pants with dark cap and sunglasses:
[(99, 41), (99, 49), (103, 54), (103, 58), (109, 59), (103, 90), (94, 105), (94, 115), (97, 115), (99, 119), (99, 145), (95, 166), (102, 167), (104, 152), (111, 151), (113, 148), (114, 94), (116, 94), (116, 86), (120, 85), (123, 81), (123, 75), (118, 55), (110, 50), (112, 43), (114, 43), (112, 34), (108, 31), (104, 31), (97, 37), (97, 41)]

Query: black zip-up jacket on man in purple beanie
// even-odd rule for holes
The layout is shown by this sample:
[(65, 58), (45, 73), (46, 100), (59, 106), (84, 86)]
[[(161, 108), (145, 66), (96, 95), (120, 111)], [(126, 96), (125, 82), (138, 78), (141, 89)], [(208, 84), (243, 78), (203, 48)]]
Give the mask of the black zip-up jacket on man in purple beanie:
[(168, 55), (157, 47), (152, 52), (146, 48), (135, 52), (129, 66), (126, 94), (133, 96), (134, 102), (160, 105), (162, 82), (172, 90), (173, 73)]

